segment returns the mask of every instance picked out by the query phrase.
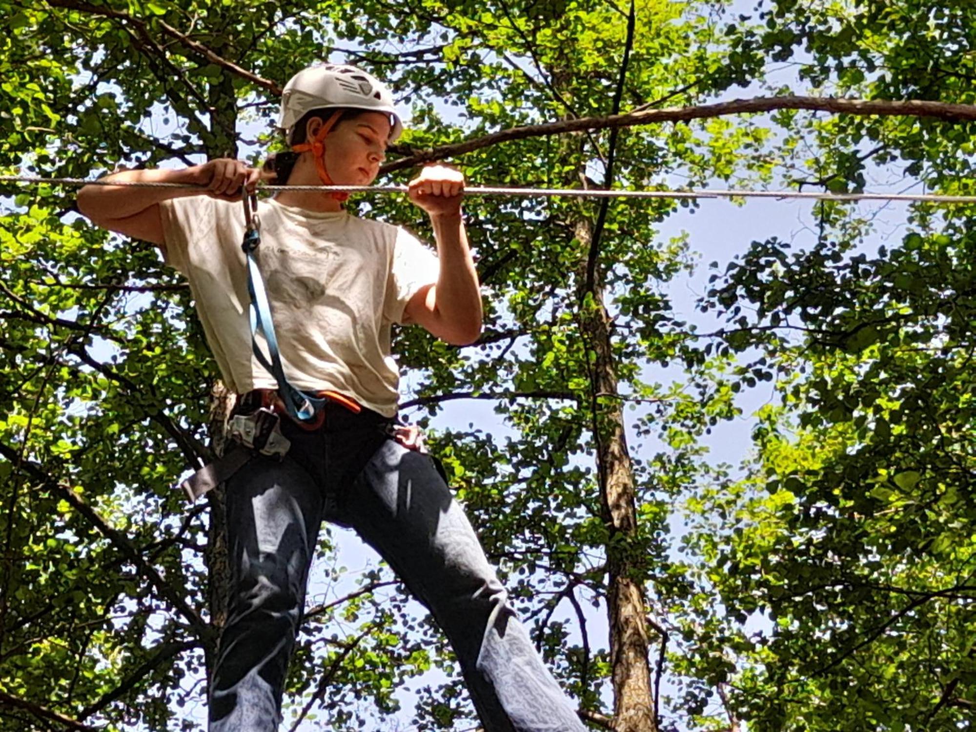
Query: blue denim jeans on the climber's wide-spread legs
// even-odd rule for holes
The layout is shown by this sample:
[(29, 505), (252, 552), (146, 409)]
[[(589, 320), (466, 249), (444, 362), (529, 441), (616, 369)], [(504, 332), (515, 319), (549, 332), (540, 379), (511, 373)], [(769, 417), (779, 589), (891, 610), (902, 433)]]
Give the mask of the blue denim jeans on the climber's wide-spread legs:
[(278, 728), (323, 519), (355, 529), (427, 606), (487, 732), (584, 730), (436, 464), (387, 437), (384, 425), (380, 415), (334, 405), (313, 432), (284, 420), (292, 441), (284, 461), (258, 455), (228, 481), (233, 576), (210, 684), (211, 732)]

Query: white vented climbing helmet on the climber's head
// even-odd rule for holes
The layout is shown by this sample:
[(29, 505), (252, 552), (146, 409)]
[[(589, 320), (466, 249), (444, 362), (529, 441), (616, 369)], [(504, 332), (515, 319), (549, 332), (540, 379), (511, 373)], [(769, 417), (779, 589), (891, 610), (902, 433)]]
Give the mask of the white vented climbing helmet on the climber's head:
[(348, 107), (386, 113), (390, 117), (389, 142), (403, 132), (403, 123), (393, 105), (393, 95), (372, 74), (355, 66), (324, 63), (299, 71), (281, 93), (278, 127), (291, 142), (295, 124), (312, 109)]

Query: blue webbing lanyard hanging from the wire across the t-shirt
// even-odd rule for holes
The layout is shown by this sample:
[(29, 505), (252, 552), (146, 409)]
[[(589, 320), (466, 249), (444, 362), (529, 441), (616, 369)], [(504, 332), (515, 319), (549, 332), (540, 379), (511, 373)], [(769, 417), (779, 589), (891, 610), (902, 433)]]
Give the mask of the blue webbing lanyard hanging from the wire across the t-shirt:
[[(285, 409), (290, 417), (301, 422), (309, 422), (321, 411), (325, 399), (309, 396), (301, 389), (292, 386), (285, 378), (285, 371), (281, 367), (281, 354), (278, 351), (278, 339), (274, 334), (274, 321), (271, 319), (271, 305), (267, 302), (264, 291), (264, 278), (258, 267), (258, 260), (254, 252), (261, 244), (261, 222), (258, 220), (258, 195), (243, 191), (244, 218), (246, 229), (241, 249), (247, 258), (247, 291), (251, 299), (248, 311), (251, 316), (251, 348), (259, 363), (274, 377), (278, 383), (278, 395), (285, 403)], [(264, 335), (270, 360), (258, 346), (258, 333)]]

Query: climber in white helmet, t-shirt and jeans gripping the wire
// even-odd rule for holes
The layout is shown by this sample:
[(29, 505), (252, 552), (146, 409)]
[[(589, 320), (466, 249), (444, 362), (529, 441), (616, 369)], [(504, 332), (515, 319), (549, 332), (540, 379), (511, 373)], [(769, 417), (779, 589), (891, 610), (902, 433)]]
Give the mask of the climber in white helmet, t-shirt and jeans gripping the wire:
[[(276, 183), (289, 186), (372, 183), (402, 129), (383, 84), (328, 64), (288, 82), (279, 126), (293, 153), (279, 156)], [(398, 226), (350, 216), (345, 195), (332, 191), (255, 199), (260, 227), (246, 222), (241, 192), (262, 176), (212, 160), (105, 179), (203, 186), (196, 189), (88, 185), (78, 194), (94, 224), (157, 244), (183, 272), (224, 383), (237, 394), (235, 442), (188, 485), (195, 496), (225, 484), (231, 583), (210, 729), (277, 729), (325, 519), (355, 529), (427, 606), (486, 730), (584, 730), (437, 463), (396, 423), (390, 326), (415, 323), (455, 345), (481, 330), (462, 174), (431, 165), (408, 186), (430, 217), (436, 256)]]

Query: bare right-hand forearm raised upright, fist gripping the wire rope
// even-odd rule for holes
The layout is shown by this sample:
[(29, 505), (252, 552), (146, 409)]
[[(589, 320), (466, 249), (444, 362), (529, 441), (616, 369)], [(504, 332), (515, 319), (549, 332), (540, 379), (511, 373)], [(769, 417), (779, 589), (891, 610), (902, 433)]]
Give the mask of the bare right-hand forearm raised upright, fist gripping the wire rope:
[(442, 166), (426, 168), (410, 183), (410, 197), (427, 211), (437, 240), (440, 273), (436, 284), (421, 288), (404, 310), (404, 322), (417, 323), (437, 338), (467, 346), (481, 335), (481, 292), (461, 215), (464, 178)]

